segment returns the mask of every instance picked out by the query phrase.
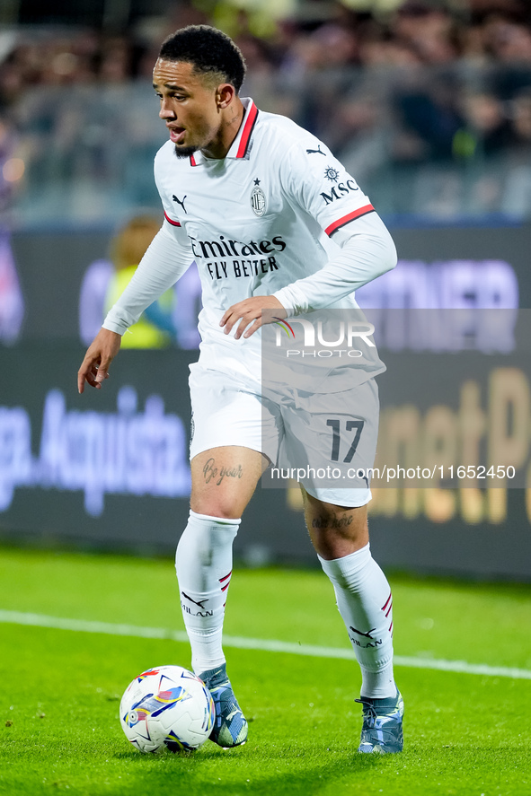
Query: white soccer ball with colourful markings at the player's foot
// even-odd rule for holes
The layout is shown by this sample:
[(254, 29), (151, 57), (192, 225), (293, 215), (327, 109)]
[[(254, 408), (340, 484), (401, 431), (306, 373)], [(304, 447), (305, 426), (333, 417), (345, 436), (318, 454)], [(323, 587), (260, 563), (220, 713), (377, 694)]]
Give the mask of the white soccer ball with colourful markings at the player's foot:
[(208, 688), (181, 666), (142, 672), (119, 704), (121, 726), (140, 752), (197, 749), (208, 739), (215, 718)]

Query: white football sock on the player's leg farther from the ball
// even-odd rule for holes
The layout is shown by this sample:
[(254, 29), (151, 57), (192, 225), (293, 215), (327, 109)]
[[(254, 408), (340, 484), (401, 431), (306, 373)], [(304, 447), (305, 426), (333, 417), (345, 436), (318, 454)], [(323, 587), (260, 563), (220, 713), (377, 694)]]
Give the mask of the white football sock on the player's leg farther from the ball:
[(318, 557), (361, 668), (361, 695), (394, 696), (393, 599), (385, 574), (369, 545), (333, 561)]

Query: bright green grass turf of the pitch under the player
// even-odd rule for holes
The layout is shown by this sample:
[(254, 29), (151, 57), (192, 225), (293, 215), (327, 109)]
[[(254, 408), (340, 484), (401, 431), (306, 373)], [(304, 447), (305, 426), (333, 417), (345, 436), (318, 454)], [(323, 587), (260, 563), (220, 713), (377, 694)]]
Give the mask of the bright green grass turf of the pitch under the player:
[[(531, 589), (390, 579), (403, 655), (531, 669)], [(0, 608), (181, 629), (171, 561), (0, 549)], [(347, 647), (322, 573), (242, 570), (226, 632)], [(531, 681), (397, 667), (398, 756), (356, 754), (359, 675), (349, 660), (227, 649), (252, 719), (243, 748), (138, 754), (119, 695), (186, 644), (0, 625), (0, 793), (531, 794)]]

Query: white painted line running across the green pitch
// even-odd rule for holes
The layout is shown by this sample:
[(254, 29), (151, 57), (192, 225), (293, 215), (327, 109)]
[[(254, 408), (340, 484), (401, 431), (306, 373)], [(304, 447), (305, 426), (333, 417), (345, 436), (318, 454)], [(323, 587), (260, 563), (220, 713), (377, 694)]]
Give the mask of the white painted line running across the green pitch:
[[(76, 633), (130, 635), (136, 636), (137, 638), (159, 638), (171, 639), (177, 642), (188, 642), (188, 636), (182, 630), (167, 630), (164, 627), (139, 627), (137, 625), (112, 625), (110, 622), (93, 622), (85, 619), (48, 617), (44, 614), (26, 614), (20, 611), (0, 610), (0, 623), (29, 625), (31, 627), (49, 627), (56, 630), (73, 630)], [(224, 635), (223, 643), (227, 647), (235, 647), (240, 650), (289, 652), (292, 655), (308, 655), (313, 658), (341, 658), (345, 660), (354, 660), (354, 652), (352, 652), (352, 650), (338, 647), (318, 647), (313, 644), (281, 642), (275, 639), (244, 638), (238, 635)], [(455, 671), (458, 674), (477, 674), (495, 678), (531, 680), (531, 670), (529, 669), (487, 666), (481, 663), (467, 663), (465, 660), (439, 660), (395, 655), (394, 663), (396, 666), (405, 666), (410, 669), (435, 669), (437, 671)]]

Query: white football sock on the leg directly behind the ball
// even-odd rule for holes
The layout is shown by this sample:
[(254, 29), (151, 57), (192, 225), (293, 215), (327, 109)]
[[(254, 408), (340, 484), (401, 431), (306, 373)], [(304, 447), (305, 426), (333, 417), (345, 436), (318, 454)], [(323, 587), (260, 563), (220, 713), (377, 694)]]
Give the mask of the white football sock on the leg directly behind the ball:
[(221, 636), (240, 522), (190, 511), (177, 546), (175, 570), (196, 674), (225, 663)]

